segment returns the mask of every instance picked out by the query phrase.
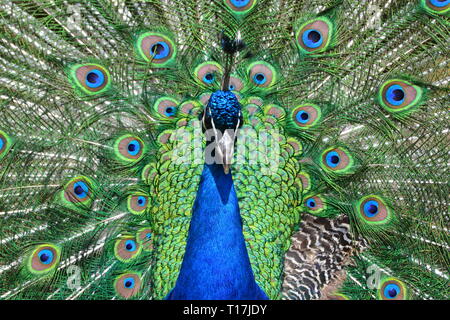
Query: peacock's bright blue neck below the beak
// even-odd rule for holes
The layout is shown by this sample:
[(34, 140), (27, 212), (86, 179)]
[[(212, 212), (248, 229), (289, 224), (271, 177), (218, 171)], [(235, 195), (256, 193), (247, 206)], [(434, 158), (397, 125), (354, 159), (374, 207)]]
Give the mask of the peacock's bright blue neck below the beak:
[(255, 282), (231, 174), (203, 168), (186, 252), (169, 300), (268, 299)]

